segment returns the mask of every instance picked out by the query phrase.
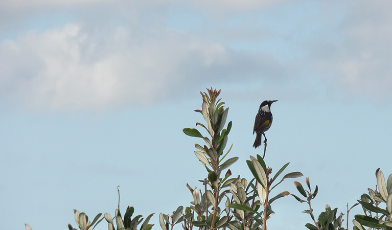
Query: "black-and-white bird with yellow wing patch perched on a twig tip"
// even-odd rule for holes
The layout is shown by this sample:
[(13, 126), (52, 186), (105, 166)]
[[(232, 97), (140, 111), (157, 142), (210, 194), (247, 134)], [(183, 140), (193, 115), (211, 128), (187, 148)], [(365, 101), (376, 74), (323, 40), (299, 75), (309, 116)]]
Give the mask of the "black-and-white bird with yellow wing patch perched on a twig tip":
[(265, 137), (265, 131), (267, 131), (272, 124), (272, 113), (271, 113), (271, 104), (278, 100), (265, 100), (261, 103), (259, 112), (256, 115), (255, 126), (253, 126), (253, 135), (256, 132), (256, 140), (253, 144), (255, 149), (261, 146), (261, 135), (264, 135), (264, 143), (267, 142), (267, 138)]

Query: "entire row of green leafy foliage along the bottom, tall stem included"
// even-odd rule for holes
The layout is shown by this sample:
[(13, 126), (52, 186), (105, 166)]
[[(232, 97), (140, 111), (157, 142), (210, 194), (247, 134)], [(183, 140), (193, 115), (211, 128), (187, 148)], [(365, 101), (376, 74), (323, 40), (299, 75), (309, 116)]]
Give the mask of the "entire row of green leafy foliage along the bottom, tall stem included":
[[(266, 230), (267, 220), (274, 214), (271, 204), (277, 199), (287, 195), (293, 196), (301, 203), (307, 203), (309, 209), (304, 213), (310, 215), (313, 223), (305, 226), (310, 230), (345, 230), (342, 227), (343, 213), (337, 216), (337, 208), (331, 209), (326, 206), (325, 212), (321, 212), (317, 218), (313, 214), (311, 200), (318, 194), (318, 186), (312, 191), (310, 180), (306, 178), (307, 189), (298, 181), (294, 185), (302, 197), (283, 191), (272, 196), (271, 191), (287, 178), (301, 177), (301, 172), (282, 174), (289, 163), (282, 166), (273, 176), (272, 168), (268, 167), (263, 157), (250, 156), (246, 164), (253, 175), (248, 181), (240, 176), (232, 177), (229, 167), (237, 162), (238, 157), (228, 157), (231, 145), (226, 151), (228, 134), (232, 128), (232, 122), (227, 121), (228, 108), (224, 108), (224, 102), (218, 99), (220, 90), (207, 89), (207, 93), (201, 93), (201, 109), (195, 110), (202, 114), (205, 123), (196, 123), (201, 131), (196, 128), (184, 128), (183, 132), (192, 137), (198, 137), (203, 144), (195, 144), (196, 157), (206, 170), (205, 178), (199, 180), (202, 189), (192, 188), (187, 184), (193, 200), (185, 209), (179, 206), (171, 215), (159, 214), (159, 225), (163, 230), (173, 230), (176, 224), (182, 225), (184, 230)], [(207, 133), (207, 135), (203, 135)], [(281, 174), (283, 176), (281, 176)], [(278, 179), (280, 178), (280, 179)], [(377, 189), (368, 189), (368, 194), (363, 194), (358, 202), (362, 205), (364, 215), (355, 215), (354, 230), (365, 230), (365, 227), (373, 229), (392, 230), (392, 174), (387, 181), (381, 170), (376, 171)], [(272, 196), (272, 198), (270, 198)], [(120, 199), (120, 192), (119, 192)], [(120, 203), (120, 201), (119, 201)], [(347, 217), (350, 210), (347, 205)], [(384, 206), (380, 207), (383, 204)], [(114, 218), (110, 214), (99, 213), (91, 222), (85, 213), (74, 210), (75, 221), (80, 230), (93, 230), (103, 219), (108, 223), (108, 230), (151, 230), (153, 224), (149, 224), (150, 214), (142, 223), (142, 215), (132, 218), (134, 208), (128, 206), (124, 216), (120, 213), (120, 207), (116, 209)], [(114, 224), (116, 223), (116, 224)], [(142, 224), (140, 227), (138, 227)], [(114, 227), (116, 225), (116, 228)], [(26, 230), (32, 228), (25, 224)], [(68, 224), (70, 230), (77, 230)], [(347, 222), (348, 228), (348, 222)]]

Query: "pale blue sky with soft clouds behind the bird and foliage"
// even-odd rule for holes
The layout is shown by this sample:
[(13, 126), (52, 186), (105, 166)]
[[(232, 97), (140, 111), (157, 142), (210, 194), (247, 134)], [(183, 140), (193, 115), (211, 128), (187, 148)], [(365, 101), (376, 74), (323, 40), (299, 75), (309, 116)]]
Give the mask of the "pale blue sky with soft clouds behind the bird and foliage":
[[(134, 206), (169, 214), (206, 177), (200, 91), (222, 90), (230, 169), (248, 181), (264, 100), (266, 163), (318, 185), (315, 213), (345, 213), (386, 177), (392, 144), (392, 2), (3, 0), (0, 3), (0, 229), (76, 226)], [(294, 194), (294, 179), (272, 191)], [(274, 201), (268, 226), (305, 229), (307, 206)], [(361, 214), (355, 208), (349, 217)], [(343, 219), (347, 219), (344, 217)], [(98, 230), (107, 229), (101, 222)], [(160, 229), (159, 224), (153, 229)], [(180, 229), (180, 228), (178, 228)]]

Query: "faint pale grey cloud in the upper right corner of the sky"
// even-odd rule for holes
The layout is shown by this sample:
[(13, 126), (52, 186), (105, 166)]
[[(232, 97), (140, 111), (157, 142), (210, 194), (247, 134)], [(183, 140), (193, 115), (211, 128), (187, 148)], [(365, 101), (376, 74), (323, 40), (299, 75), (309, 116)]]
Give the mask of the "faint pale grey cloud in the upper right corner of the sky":
[(339, 37), (313, 55), (329, 71), (328, 81), (349, 95), (389, 99), (392, 96), (392, 15), (390, 1), (355, 1), (346, 6)]

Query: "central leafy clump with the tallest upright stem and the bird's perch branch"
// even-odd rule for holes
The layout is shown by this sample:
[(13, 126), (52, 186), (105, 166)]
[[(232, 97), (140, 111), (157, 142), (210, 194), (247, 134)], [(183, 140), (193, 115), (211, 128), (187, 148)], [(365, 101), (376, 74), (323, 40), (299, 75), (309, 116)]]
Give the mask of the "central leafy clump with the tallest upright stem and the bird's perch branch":
[[(169, 227), (173, 229), (173, 226), (178, 223), (182, 223), (182, 227), (186, 230), (193, 226), (205, 230), (266, 229), (266, 221), (273, 214), (270, 204), (290, 194), (285, 191), (269, 198), (271, 190), (284, 179), (302, 176), (302, 173), (288, 173), (272, 186), (289, 163), (270, 179), (272, 169), (267, 168), (263, 158), (257, 155), (257, 157), (250, 156), (250, 160), (247, 160), (248, 167), (255, 177), (250, 182), (240, 176), (230, 178), (232, 175), (230, 170), (223, 175), (222, 172), (238, 160), (238, 157), (224, 160), (233, 146), (224, 152), (232, 122), (228, 122), (225, 128), (228, 108), (224, 108), (225, 103), (218, 100), (220, 90), (211, 88), (207, 89), (207, 92), (208, 94), (200, 92), (203, 99), (201, 110), (195, 111), (200, 112), (206, 122), (206, 124), (198, 122), (196, 126), (204, 129), (208, 136), (202, 135), (196, 128), (183, 129), (185, 134), (199, 137), (204, 141), (204, 144), (195, 144), (197, 150), (194, 151), (206, 170), (206, 177), (201, 180), (204, 188), (192, 189), (187, 185), (193, 196), (191, 205), (185, 209), (185, 213), (181, 213), (182, 206), (179, 206), (171, 216), (161, 213), (159, 224), (163, 230), (169, 230)], [(224, 199), (224, 206), (220, 206)], [(260, 209), (261, 206), (263, 209)]]

